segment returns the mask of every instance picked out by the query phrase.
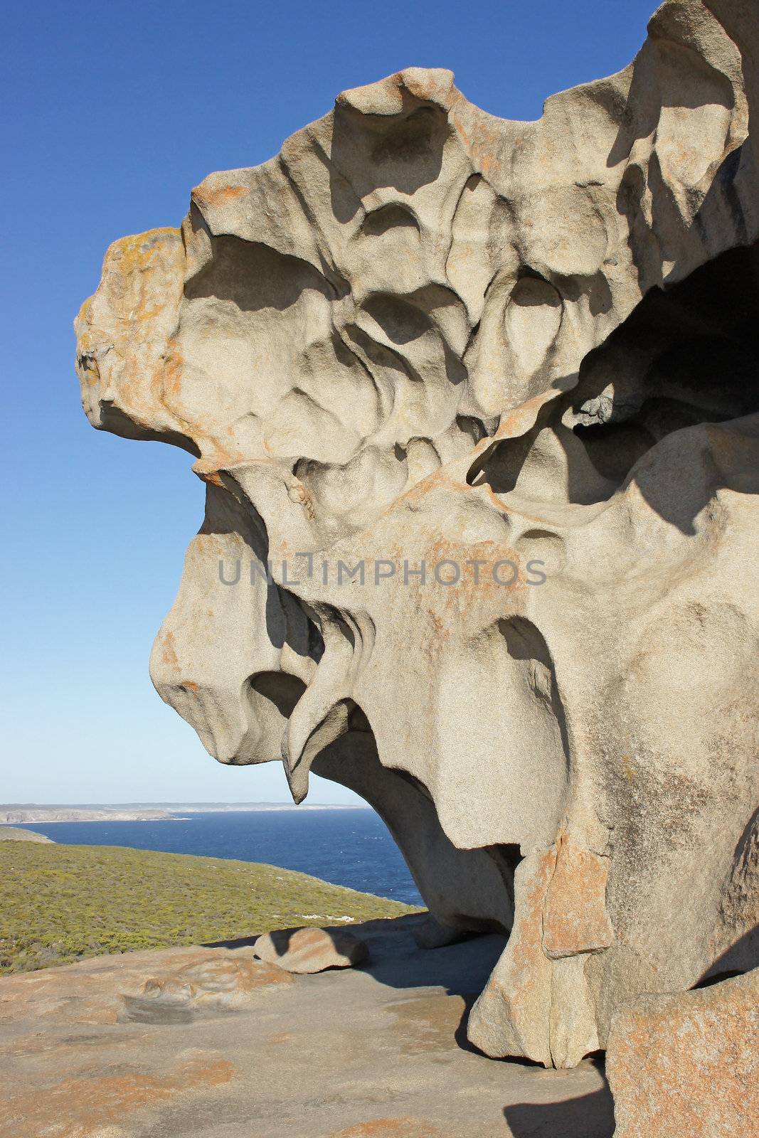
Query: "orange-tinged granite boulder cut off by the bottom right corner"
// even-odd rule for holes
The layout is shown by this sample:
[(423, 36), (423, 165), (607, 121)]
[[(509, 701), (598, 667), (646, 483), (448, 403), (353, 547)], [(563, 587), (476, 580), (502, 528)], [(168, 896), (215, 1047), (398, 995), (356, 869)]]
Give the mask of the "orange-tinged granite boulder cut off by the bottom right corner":
[(759, 971), (644, 996), (611, 1021), (614, 1138), (737, 1138), (759, 1129)]

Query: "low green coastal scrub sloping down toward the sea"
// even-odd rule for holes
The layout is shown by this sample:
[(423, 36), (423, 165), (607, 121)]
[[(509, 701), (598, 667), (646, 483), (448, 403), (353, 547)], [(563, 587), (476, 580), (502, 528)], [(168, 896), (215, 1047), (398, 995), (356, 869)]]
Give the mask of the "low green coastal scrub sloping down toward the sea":
[(0, 842), (0, 973), (414, 912), (271, 865), (119, 846)]

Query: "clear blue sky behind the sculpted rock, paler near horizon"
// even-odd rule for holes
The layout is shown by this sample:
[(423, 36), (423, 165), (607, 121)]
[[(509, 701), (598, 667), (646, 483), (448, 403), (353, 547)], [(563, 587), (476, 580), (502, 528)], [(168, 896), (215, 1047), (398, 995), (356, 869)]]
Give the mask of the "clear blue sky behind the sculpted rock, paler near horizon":
[[(93, 431), (72, 319), (115, 238), (179, 224), (345, 88), (449, 67), (492, 114), (624, 67), (650, 0), (11, 0), (5, 7), (0, 800), (284, 800), (279, 764), (218, 766), (148, 653), (203, 518), (188, 454)], [(350, 801), (314, 780), (310, 801)]]

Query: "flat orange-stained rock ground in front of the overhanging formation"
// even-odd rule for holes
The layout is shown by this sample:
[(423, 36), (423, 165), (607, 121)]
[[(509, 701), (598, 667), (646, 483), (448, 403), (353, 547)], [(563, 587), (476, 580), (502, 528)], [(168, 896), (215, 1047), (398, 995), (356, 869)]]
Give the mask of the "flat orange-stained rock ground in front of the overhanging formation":
[(372, 921), (360, 967), (291, 975), (251, 941), (0, 980), (2, 1138), (610, 1138), (602, 1066), (494, 1061), (463, 1022), (503, 948)]

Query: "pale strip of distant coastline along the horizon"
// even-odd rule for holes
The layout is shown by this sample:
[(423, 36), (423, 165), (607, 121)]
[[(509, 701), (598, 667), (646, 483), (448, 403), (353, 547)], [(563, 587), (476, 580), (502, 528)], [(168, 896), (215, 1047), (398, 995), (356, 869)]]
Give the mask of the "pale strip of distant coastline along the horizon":
[(362, 805), (292, 802), (123, 802), (117, 805), (0, 805), (0, 825), (52, 822), (173, 822), (189, 814), (253, 813), (258, 810), (362, 810)]

